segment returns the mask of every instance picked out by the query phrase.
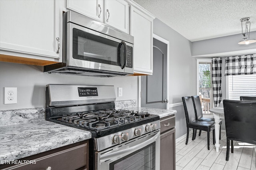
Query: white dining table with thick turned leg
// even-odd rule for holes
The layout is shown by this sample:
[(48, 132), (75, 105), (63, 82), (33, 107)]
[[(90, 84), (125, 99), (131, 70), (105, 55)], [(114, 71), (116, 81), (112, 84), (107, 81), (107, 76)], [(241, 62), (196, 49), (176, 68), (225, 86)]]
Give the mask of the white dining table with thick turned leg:
[(223, 102), (220, 103), (219, 106), (210, 109), (210, 112), (213, 113), (214, 121), (215, 121), (215, 148), (216, 152), (219, 152), (220, 148), (220, 118), (224, 119), (224, 108)]

